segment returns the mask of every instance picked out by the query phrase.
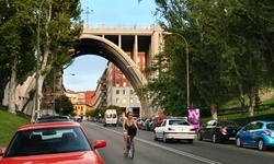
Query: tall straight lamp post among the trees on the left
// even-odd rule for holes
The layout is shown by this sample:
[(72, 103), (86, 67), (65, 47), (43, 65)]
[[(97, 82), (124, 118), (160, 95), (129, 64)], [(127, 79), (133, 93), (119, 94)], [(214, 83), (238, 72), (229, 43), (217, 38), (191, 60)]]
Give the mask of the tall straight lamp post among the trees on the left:
[(44, 3), (45, 0), (42, 0), (41, 4), (39, 4), (39, 9), (38, 9), (38, 24), (37, 24), (37, 47), (36, 47), (36, 79), (35, 79), (35, 115), (36, 117), (39, 116), (39, 107), (38, 107), (38, 81), (39, 81), (39, 58), (41, 58), (41, 54), (39, 54), (39, 20), (41, 20), (41, 9), (42, 5)]

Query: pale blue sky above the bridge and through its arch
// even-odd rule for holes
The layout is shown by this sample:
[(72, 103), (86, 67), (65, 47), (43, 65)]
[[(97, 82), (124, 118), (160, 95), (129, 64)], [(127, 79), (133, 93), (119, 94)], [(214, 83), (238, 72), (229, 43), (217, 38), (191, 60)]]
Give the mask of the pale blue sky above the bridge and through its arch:
[[(148, 27), (156, 22), (152, 14), (156, 10), (153, 0), (142, 0), (140, 3), (138, 0), (81, 0), (81, 17), (84, 25), (89, 26)], [(76, 58), (73, 63), (64, 70), (66, 90), (95, 91), (106, 63), (106, 59), (94, 55)]]

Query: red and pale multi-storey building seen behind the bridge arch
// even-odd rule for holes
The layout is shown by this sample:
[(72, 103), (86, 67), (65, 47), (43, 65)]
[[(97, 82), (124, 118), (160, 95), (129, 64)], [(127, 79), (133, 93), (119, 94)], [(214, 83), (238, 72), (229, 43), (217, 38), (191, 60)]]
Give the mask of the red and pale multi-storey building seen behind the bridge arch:
[[(145, 54), (138, 54), (138, 69), (142, 71), (145, 69)], [(104, 83), (106, 82), (105, 86)], [(98, 90), (98, 89), (101, 90)], [(135, 94), (133, 86), (129, 81), (123, 74), (123, 72), (112, 62), (107, 63), (107, 68), (105, 69), (100, 83), (96, 89), (98, 102), (106, 103), (106, 106), (116, 105), (119, 106), (122, 112), (125, 114), (129, 108), (133, 108), (134, 116), (141, 116), (141, 105), (139, 97)], [(106, 89), (106, 90), (105, 90)], [(106, 94), (106, 99), (104, 102)], [(103, 99), (102, 99), (103, 97)], [(100, 107), (100, 104), (95, 105)]]

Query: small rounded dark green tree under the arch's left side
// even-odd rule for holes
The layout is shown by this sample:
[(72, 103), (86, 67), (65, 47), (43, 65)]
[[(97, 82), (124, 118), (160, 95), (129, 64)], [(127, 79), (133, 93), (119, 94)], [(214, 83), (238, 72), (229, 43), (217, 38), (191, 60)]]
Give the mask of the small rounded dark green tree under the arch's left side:
[(61, 95), (55, 99), (55, 112), (59, 115), (71, 115), (75, 112), (73, 104), (68, 96)]

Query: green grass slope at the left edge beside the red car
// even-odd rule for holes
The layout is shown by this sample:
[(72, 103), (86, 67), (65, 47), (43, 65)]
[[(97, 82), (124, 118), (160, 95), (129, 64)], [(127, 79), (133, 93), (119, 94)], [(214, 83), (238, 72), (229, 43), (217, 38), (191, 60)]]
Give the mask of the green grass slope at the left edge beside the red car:
[(16, 129), (30, 124), (30, 119), (0, 110), (0, 147), (7, 147)]

